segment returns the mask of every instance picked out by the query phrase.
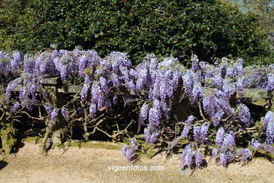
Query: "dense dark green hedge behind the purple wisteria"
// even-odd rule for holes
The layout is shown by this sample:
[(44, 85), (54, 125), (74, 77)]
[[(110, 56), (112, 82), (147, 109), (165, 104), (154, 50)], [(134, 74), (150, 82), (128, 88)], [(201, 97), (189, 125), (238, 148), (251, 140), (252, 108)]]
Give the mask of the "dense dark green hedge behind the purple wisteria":
[[(263, 61), (268, 44), (253, 14), (224, 1), (207, 0), (5, 0), (0, 8), (0, 49), (94, 49), (209, 61), (233, 56)], [(136, 64), (135, 63), (135, 64)]]

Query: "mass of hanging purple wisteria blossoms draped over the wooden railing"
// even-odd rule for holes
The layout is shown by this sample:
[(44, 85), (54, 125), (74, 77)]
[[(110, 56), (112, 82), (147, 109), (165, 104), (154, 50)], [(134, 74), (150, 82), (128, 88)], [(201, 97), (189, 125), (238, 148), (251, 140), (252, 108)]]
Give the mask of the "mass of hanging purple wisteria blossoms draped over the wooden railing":
[[(32, 111), (33, 106), (44, 106), (54, 123), (58, 115), (70, 120), (68, 109), (53, 107), (50, 96), (41, 81), (46, 77), (60, 76), (63, 84), (81, 84), (79, 102), (89, 109), (89, 118), (95, 118), (101, 108), (111, 108), (117, 99), (113, 92), (129, 92), (140, 99), (139, 123), (144, 129), (144, 140), (155, 144), (167, 133), (166, 125), (174, 120), (173, 104), (179, 95), (187, 99), (191, 108), (185, 116), (180, 134), (169, 146), (174, 149), (179, 142), (188, 140), (181, 156), (181, 167), (192, 165), (200, 168), (204, 158), (199, 146), (211, 146), (212, 157), (227, 165), (240, 158), (243, 162), (251, 158), (250, 149), (264, 149), (272, 152), (274, 142), (274, 113), (264, 116), (260, 134), (250, 146), (237, 150), (236, 139), (240, 132), (254, 127), (254, 116), (244, 99), (235, 100), (236, 92), (245, 88), (274, 89), (274, 65), (243, 66), (243, 60), (222, 58), (215, 64), (200, 61), (193, 56), (191, 68), (186, 68), (176, 58), (157, 58), (148, 55), (143, 63), (133, 66), (126, 53), (111, 52), (100, 58), (96, 51), (44, 51), (35, 55), (18, 51), (0, 51), (0, 77), (6, 82), (6, 101), (11, 103), (10, 113), (19, 108)], [(20, 85), (17, 102), (12, 102), (12, 93)], [(196, 112), (195, 112), (196, 111)], [(197, 112), (199, 111), (199, 112)], [(261, 131), (260, 131), (261, 129)], [(254, 130), (254, 128), (253, 128)], [(255, 128), (256, 131), (256, 128)], [(257, 131), (256, 131), (257, 132)], [(254, 132), (248, 134), (254, 137)], [(164, 137), (163, 137), (164, 138)], [(124, 146), (122, 154), (127, 160), (138, 149), (136, 139), (130, 146)]]

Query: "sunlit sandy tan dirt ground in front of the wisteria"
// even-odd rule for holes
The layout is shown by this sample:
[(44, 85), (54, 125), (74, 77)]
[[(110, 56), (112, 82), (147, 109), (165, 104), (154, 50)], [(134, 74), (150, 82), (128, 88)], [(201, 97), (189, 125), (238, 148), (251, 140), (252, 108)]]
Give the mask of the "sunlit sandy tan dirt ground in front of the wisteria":
[[(130, 165), (121, 150), (65, 147), (39, 155), (39, 146), (25, 143), (11, 158), (0, 161), (0, 182), (274, 182), (274, 165), (263, 158), (223, 168), (211, 160), (190, 176), (181, 171), (180, 156), (165, 162), (165, 154), (141, 158), (134, 166), (164, 166), (162, 171), (109, 170)], [(114, 168), (115, 169), (115, 168)]]

